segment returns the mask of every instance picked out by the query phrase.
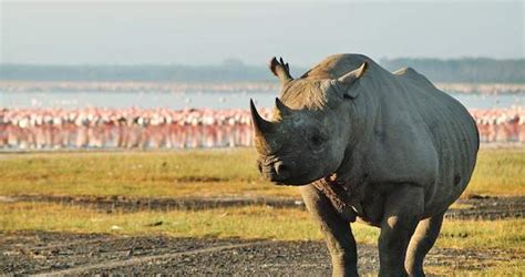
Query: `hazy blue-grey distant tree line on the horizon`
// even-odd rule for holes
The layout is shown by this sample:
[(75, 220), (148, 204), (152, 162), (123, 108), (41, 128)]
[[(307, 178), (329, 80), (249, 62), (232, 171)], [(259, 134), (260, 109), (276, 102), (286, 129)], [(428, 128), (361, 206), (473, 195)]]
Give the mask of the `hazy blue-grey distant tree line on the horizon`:
[[(525, 83), (525, 59), (486, 58), (382, 59), (390, 71), (411, 66), (433, 82)], [(305, 72), (306, 68), (292, 68)], [(241, 82), (275, 81), (266, 66), (228, 60), (218, 65), (31, 65), (0, 64), (0, 80), (21, 81), (151, 81), (151, 82)]]

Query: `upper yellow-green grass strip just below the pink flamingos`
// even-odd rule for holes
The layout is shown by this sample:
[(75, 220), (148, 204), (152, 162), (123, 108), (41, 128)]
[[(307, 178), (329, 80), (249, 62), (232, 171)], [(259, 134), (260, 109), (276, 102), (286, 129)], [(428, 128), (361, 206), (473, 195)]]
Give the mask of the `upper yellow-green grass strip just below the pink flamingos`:
[[(0, 155), (0, 195), (288, 196), (251, 148)], [(482, 148), (465, 195), (525, 195), (525, 150)]]

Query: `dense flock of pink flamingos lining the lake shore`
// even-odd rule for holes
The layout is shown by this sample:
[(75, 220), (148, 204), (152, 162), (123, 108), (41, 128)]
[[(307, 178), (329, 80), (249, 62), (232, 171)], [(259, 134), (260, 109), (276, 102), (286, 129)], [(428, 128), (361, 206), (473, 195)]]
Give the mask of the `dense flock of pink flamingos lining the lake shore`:
[[(523, 106), (471, 113), (482, 142), (525, 142)], [(247, 110), (3, 109), (0, 150), (250, 146), (250, 124)]]

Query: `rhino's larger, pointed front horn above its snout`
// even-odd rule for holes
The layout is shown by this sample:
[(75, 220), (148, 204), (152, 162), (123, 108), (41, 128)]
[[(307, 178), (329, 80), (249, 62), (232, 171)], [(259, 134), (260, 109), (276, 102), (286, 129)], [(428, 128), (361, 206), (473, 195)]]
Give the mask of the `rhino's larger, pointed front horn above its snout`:
[(255, 130), (255, 147), (259, 154), (269, 154), (276, 150), (276, 145), (271, 143), (270, 136), (275, 133), (277, 125), (259, 115), (253, 100), (249, 101), (249, 110)]

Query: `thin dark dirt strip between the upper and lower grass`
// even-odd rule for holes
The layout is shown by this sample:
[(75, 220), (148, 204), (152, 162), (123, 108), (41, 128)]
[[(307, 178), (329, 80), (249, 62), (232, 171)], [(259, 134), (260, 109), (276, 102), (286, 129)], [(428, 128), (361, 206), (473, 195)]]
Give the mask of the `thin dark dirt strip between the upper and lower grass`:
[[(216, 207), (236, 207), (246, 205), (268, 205), (272, 207), (305, 208), (300, 199), (265, 197), (217, 197), (217, 198), (140, 198), (126, 196), (50, 196), (21, 195), (17, 197), (0, 196), (0, 202), (52, 202), (65, 205), (80, 205), (96, 208), (106, 213), (137, 212), (144, 209), (207, 209)], [(472, 195), (459, 199), (460, 208), (450, 208), (445, 217), (454, 219), (503, 219), (523, 218), (525, 197), (495, 197)]]

